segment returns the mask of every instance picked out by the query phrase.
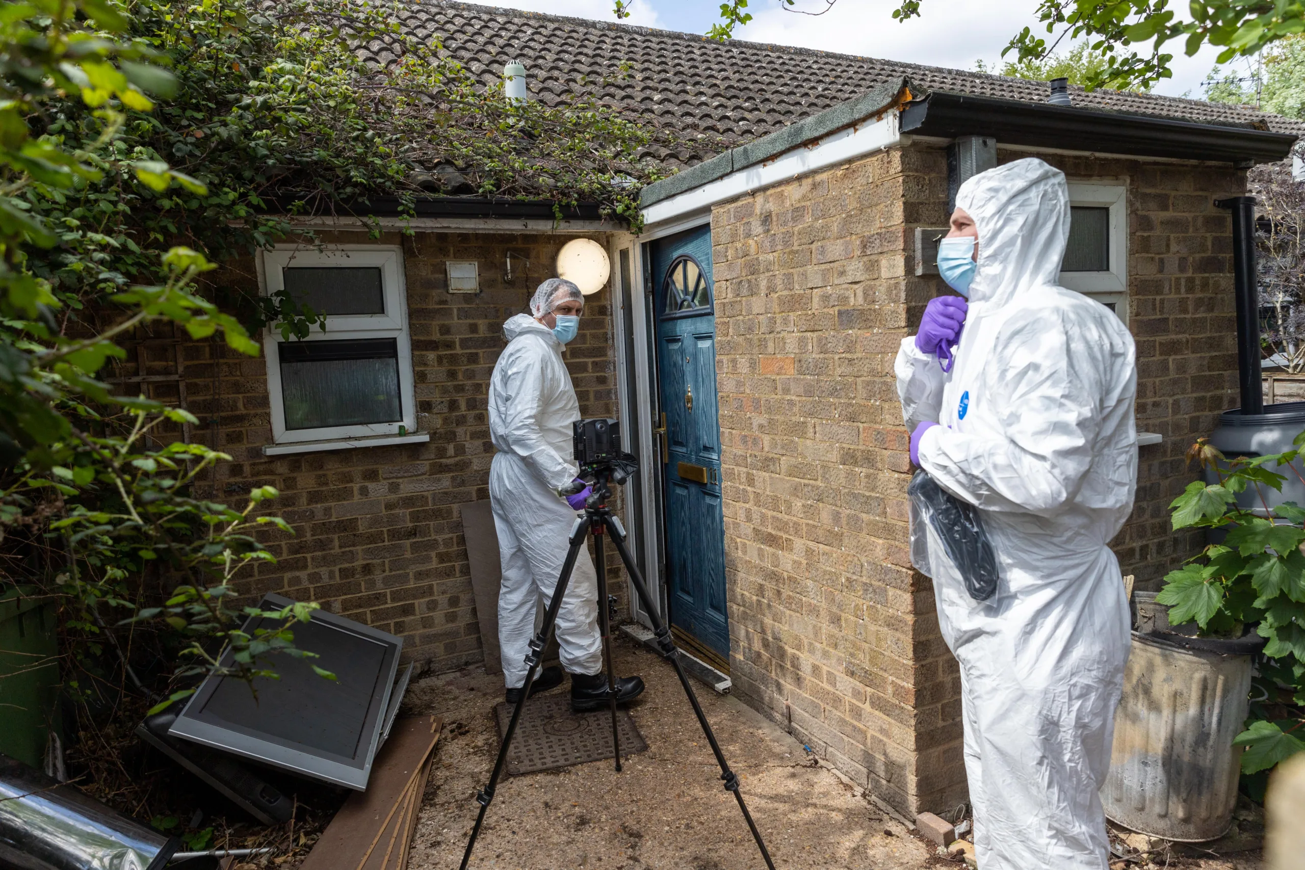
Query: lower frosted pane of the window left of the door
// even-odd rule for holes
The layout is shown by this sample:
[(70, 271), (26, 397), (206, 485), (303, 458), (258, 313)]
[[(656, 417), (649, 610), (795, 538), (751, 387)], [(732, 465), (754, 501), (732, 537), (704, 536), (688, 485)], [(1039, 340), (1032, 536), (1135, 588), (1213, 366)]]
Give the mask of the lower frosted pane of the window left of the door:
[(398, 423), (398, 343), (393, 338), (282, 342), (286, 429)]

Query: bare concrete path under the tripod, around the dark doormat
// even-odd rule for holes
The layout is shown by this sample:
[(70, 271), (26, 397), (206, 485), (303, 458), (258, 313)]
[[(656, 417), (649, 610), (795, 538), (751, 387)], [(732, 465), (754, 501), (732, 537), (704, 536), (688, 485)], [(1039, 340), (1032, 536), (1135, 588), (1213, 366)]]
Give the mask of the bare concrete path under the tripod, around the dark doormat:
[[(649, 687), (630, 713), (649, 751), (616, 773), (611, 762), (508, 777), (499, 787), (472, 867), (504, 870), (757, 870), (762, 861), (702, 738), (672, 668), (620, 639), (616, 670)], [(553, 691), (564, 693), (568, 683)], [(744, 798), (783, 870), (916, 870), (957, 866), (929, 849), (782, 728), (739, 700), (694, 690), (740, 775)], [(412, 870), (453, 870), (493, 766), (491, 710), (502, 677), (479, 667), (429, 677), (408, 690), (405, 711), (444, 716)]]

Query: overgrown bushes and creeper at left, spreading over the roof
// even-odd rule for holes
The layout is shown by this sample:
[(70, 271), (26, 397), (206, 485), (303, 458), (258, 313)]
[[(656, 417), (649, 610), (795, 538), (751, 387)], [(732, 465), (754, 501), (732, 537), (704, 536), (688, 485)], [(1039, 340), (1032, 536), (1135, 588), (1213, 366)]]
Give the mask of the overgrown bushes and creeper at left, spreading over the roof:
[[(197, 496), (230, 457), (179, 441), (198, 423), (187, 411), (115, 394), (106, 373), (133, 330), (171, 323), (257, 355), (213, 263), (292, 233), (287, 214), (367, 219), (378, 197), (403, 213), (435, 194), (591, 202), (637, 223), (639, 187), (663, 175), (646, 154), (675, 141), (655, 127), (581, 98), (509, 103), (405, 34), (399, 12), (0, 9), (0, 588), (61, 597), (82, 693), (130, 682), (114, 655), (128, 646), (162, 663), (142, 670), (151, 700), (184, 697), (222, 650), (243, 678), (268, 652), (305, 655), (292, 629), (309, 607), (266, 613), (254, 637), (236, 627), (258, 612), (234, 604), (232, 579), (273, 558), (261, 530), (291, 531), (262, 513), (275, 490)], [(284, 295), (243, 305), (252, 327), (303, 337), (315, 320)]]

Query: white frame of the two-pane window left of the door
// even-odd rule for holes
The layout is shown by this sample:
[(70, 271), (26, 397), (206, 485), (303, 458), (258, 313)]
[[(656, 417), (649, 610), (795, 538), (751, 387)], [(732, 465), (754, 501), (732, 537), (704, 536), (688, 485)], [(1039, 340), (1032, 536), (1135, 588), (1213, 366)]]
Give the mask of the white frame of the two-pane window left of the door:
[(300, 443), (369, 436), (399, 436), (416, 432), (416, 402), (412, 393), (412, 347), (408, 337), (407, 284), (403, 278), (403, 250), (394, 245), (330, 245), (324, 249), (303, 245), (277, 245), (260, 252), (258, 278), (264, 295), (284, 290), (282, 269), (295, 266), (378, 266), (384, 314), (342, 314), (326, 318), (326, 329), (315, 325), (305, 342), (355, 338), (393, 338), (398, 350), (399, 413), (395, 423), (286, 429), (286, 406), (281, 385), (281, 356), (277, 344), (281, 333), (269, 326), (264, 333), (264, 356), (268, 359), (268, 393), (271, 404), (273, 443)]

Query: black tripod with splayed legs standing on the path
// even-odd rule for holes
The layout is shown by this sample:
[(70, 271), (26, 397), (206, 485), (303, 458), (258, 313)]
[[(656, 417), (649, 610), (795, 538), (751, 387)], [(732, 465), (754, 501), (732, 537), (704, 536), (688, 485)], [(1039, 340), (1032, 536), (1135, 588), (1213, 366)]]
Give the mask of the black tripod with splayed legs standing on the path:
[(643, 587), (643, 577), (634, 566), (634, 561), (630, 558), (630, 552), (625, 549), (625, 530), (621, 527), (621, 520), (612, 517), (612, 511), (607, 507), (607, 500), (612, 496), (612, 490), (608, 488), (608, 481), (615, 477), (616, 483), (625, 483), (629, 475), (633, 473), (633, 462), (628, 460), (604, 463), (587, 470), (594, 475), (594, 492), (585, 503), (585, 515), (577, 517), (576, 524), (572, 527), (572, 533), (568, 539), (570, 549), (566, 550), (566, 560), (562, 562), (561, 577), (557, 578), (557, 587), (553, 590), (553, 597), (548, 603), (544, 622), (539, 626), (539, 631), (535, 634), (534, 640), (530, 642), (530, 655), (526, 656), (526, 665), (529, 665), (530, 669), (526, 672), (526, 682), (521, 687), (521, 698), (517, 700), (517, 707), (512, 711), (512, 721), (508, 723), (508, 733), (504, 734), (502, 746), (499, 747), (499, 759), (495, 762), (493, 773), (489, 775), (489, 784), (485, 785), (483, 790), (476, 793), (476, 801), (480, 803), (480, 813), (476, 815), (476, 824), (471, 830), (471, 839), (467, 840), (467, 850), (462, 856), (462, 870), (467, 870), (467, 862), (471, 861), (471, 850), (475, 848), (476, 837), (480, 835), (480, 824), (485, 819), (485, 810), (489, 809), (489, 802), (493, 801), (495, 787), (499, 784), (499, 777), (502, 775), (504, 764), (508, 763), (508, 747), (512, 745), (512, 736), (515, 733), (517, 723), (521, 720), (521, 711), (525, 710), (526, 699), (530, 697), (530, 687), (535, 682), (535, 674), (539, 670), (543, 651), (548, 643), (548, 635), (553, 631), (553, 622), (557, 620), (557, 608), (561, 605), (562, 596), (566, 593), (566, 584), (570, 582), (572, 569), (576, 567), (576, 558), (579, 554), (579, 549), (585, 545), (585, 532), (592, 532), (594, 535), (594, 562), (598, 569), (598, 618), (599, 627), (603, 634), (603, 661), (607, 667), (607, 695), (612, 707), (612, 749), (616, 755), (616, 770), (621, 770), (621, 746), (617, 742), (616, 733), (616, 672), (612, 669), (607, 571), (603, 562), (604, 530), (607, 530), (611, 535), (616, 552), (621, 554), (621, 561), (625, 563), (625, 570), (630, 574), (630, 580), (634, 584), (634, 591), (639, 596), (639, 601), (643, 604), (643, 610), (649, 614), (649, 618), (652, 620), (658, 648), (662, 651), (662, 655), (668, 659), (672, 665), (675, 665), (675, 673), (680, 677), (680, 685), (684, 687), (684, 694), (688, 695), (689, 704), (693, 706), (693, 713), (698, 717), (698, 724), (702, 725), (702, 733), (706, 734), (707, 743), (711, 746), (711, 751), (716, 757), (716, 764), (720, 766), (720, 779), (724, 780), (726, 790), (733, 792), (735, 800), (739, 801), (739, 810), (743, 813), (743, 818), (748, 822), (748, 828), (752, 831), (752, 837), (757, 841), (757, 848), (761, 849), (761, 857), (766, 861), (766, 867), (769, 867), (769, 870), (775, 870), (775, 863), (770, 860), (770, 852), (766, 850), (766, 844), (761, 839), (761, 831), (757, 830), (757, 823), (752, 820), (748, 805), (743, 802), (743, 793), (739, 790), (739, 775), (729, 770), (729, 763), (726, 762), (724, 753), (720, 751), (720, 743), (716, 742), (716, 736), (711, 732), (711, 725), (707, 724), (707, 717), (702, 712), (702, 706), (698, 704), (698, 697), (693, 694), (693, 686), (689, 685), (689, 677), (684, 673), (684, 667), (680, 664), (680, 656), (676, 655), (677, 650), (675, 648), (675, 643), (671, 640), (671, 631), (658, 617), (658, 610), (652, 605), (652, 599), (649, 597), (649, 592)]

